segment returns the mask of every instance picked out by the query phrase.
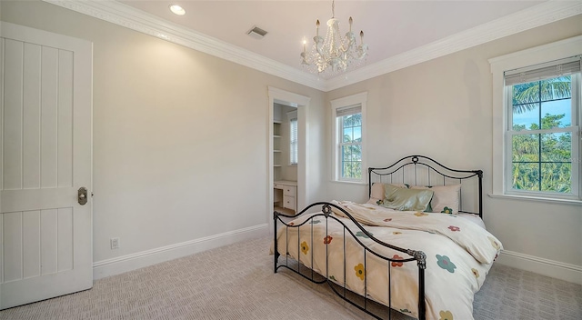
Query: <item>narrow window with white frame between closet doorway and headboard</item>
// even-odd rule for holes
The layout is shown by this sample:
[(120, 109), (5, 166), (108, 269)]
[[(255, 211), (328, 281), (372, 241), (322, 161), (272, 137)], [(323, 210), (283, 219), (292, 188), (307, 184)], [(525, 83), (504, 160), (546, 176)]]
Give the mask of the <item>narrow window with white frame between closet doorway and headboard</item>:
[(366, 95), (332, 101), (336, 181), (366, 182)]

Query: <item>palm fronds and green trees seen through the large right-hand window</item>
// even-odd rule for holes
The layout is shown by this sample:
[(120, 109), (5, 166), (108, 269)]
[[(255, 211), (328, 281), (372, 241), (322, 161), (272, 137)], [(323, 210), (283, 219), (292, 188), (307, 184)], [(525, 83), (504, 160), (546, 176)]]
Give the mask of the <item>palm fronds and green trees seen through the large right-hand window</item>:
[[(542, 115), (544, 110), (553, 110), (549, 102), (571, 104), (570, 76), (513, 86), (512, 128), (517, 132), (511, 142), (514, 189), (571, 193), (572, 133), (547, 131), (567, 128), (571, 123), (564, 122), (567, 114), (545, 112)], [(536, 122), (516, 124), (516, 115), (527, 112), (537, 112)]]

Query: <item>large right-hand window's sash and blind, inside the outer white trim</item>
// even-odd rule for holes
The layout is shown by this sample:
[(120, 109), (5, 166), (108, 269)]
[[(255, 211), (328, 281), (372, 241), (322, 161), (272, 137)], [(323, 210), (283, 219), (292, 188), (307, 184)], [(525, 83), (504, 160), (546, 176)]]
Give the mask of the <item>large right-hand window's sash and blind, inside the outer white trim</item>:
[(579, 75), (579, 57), (505, 73), (509, 193), (577, 197)]

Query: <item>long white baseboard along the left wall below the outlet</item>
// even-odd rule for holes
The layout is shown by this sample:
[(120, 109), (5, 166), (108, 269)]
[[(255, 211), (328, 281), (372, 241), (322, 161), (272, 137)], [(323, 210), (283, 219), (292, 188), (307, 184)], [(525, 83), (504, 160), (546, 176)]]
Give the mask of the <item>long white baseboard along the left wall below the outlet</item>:
[(132, 255), (98, 261), (93, 264), (93, 278), (97, 280), (110, 275), (119, 275), (148, 265), (156, 265), (182, 256), (194, 255), (223, 245), (231, 245), (241, 240), (268, 235), (268, 230), (268, 224), (254, 225), (176, 245), (167, 245)]

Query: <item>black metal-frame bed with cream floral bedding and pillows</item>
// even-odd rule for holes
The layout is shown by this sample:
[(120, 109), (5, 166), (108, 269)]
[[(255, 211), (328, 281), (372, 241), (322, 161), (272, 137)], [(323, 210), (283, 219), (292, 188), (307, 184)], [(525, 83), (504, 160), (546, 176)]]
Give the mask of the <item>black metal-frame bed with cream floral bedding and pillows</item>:
[(503, 248), (482, 220), (483, 172), (409, 155), (367, 174), (366, 203), (274, 213), (275, 273), (327, 284), (377, 319), (473, 319), (474, 295)]

